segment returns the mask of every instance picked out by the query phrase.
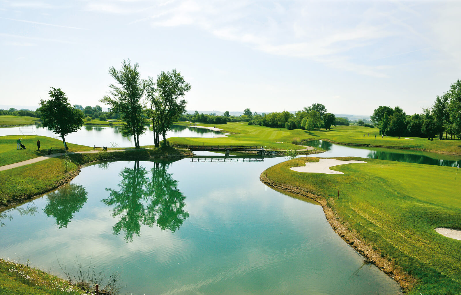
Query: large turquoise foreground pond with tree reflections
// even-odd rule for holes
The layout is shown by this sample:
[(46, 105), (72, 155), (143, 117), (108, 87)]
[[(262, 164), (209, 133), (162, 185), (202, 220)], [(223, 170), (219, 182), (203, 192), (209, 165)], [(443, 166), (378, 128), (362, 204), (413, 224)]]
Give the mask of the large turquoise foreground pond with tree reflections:
[[(109, 161), (3, 212), (0, 254), (62, 275), (120, 271), (135, 294), (402, 294), (322, 208), (260, 182), (284, 158)], [(207, 160), (209, 159), (209, 161)]]

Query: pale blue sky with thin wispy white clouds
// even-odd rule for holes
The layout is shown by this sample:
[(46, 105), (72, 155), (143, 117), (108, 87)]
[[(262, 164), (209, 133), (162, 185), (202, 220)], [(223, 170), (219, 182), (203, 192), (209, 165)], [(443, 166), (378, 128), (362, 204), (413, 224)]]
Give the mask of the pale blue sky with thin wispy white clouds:
[(461, 1), (0, 0), (0, 104), (99, 100), (109, 67), (180, 71), (187, 109), (421, 113), (461, 79)]

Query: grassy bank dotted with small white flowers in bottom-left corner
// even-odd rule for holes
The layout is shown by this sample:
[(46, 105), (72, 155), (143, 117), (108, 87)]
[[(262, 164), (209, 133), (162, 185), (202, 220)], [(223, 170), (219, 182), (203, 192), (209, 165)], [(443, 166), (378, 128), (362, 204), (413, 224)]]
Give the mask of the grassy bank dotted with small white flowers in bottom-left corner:
[(83, 295), (86, 293), (49, 273), (0, 259), (0, 294)]

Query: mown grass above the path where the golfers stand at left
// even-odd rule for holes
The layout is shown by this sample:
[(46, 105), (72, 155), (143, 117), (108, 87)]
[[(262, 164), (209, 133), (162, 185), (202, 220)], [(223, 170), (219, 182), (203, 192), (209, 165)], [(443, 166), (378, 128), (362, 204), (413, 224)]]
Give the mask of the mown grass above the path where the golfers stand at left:
[[(17, 150), (16, 141), (21, 139), (26, 149)], [(37, 151), (37, 140), (40, 139), (41, 148)], [(67, 143), (68, 152), (92, 151), (93, 147)], [(52, 148), (53, 153), (64, 153), (64, 145), (61, 140), (47, 136), (0, 136), (0, 166), (21, 162), (27, 159), (44, 156), (48, 149)]]

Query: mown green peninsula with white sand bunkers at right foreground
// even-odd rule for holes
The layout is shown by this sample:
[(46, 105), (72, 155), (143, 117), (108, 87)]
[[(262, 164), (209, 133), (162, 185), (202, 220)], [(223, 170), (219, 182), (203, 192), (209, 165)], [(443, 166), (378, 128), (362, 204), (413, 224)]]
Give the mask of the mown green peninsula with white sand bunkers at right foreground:
[(338, 159), (368, 163), (332, 168), (344, 173), (339, 175), (290, 170), (318, 159), (286, 161), (268, 168), (267, 177), (264, 171), (260, 178), (281, 189), (311, 194), (327, 217), (332, 212), (333, 229), (340, 233), (344, 227), (343, 239), (391, 276), (399, 271), (410, 275), (396, 277), (411, 289), (410, 294), (461, 293), (461, 241), (434, 230), (461, 229), (461, 177), (454, 179), (456, 168), (349, 157)]

